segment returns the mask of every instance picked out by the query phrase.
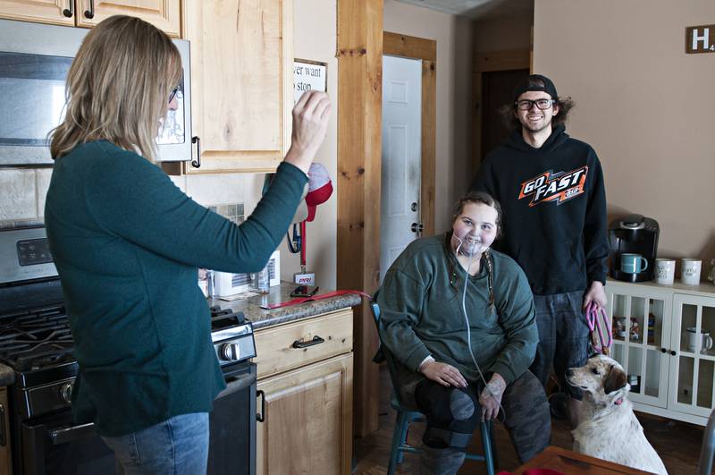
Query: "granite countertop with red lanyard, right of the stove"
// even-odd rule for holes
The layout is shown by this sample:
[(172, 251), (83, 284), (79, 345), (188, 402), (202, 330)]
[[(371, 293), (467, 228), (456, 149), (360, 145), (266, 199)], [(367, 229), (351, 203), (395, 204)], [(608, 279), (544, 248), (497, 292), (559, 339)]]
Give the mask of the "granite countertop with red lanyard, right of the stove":
[[(265, 310), (261, 309), (261, 305), (266, 303), (280, 303), (282, 301), (291, 301), (295, 297), (291, 297), (290, 293), (298, 286), (291, 282), (282, 281), (280, 285), (271, 287), (269, 293), (264, 295), (256, 295), (244, 299), (234, 301), (224, 301), (219, 298), (208, 299), (210, 306), (218, 305), (222, 309), (231, 309), (233, 311), (242, 311), (246, 318), (253, 322), (255, 330), (265, 327), (273, 327), (292, 320), (300, 318), (313, 317), (321, 313), (327, 313), (335, 310), (347, 309), (354, 307), (360, 303), (362, 298), (355, 294), (349, 293), (346, 295), (338, 295), (329, 297), (319, 301), (307, 301), (297, 305), (281, 307), (280, 309)], [(317, 295), (332, 292), (330, 289), (320, 288)]]

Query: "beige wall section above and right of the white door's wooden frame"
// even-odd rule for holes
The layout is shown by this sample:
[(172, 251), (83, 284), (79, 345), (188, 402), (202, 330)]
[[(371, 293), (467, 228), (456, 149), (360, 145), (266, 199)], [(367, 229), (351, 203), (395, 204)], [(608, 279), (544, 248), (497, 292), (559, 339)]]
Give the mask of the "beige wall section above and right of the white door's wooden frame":
[(472, 22), (384, 0), (385, 31), (437, 41), (435, 229), (450, 226), (450, 208), (471, 181)]

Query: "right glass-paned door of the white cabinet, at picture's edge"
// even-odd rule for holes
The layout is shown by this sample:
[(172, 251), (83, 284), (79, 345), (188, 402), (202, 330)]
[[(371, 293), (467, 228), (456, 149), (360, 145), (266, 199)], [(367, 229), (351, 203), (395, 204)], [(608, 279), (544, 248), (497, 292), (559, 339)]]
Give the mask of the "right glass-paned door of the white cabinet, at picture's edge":
[(678, 411), (708, 417), (715, 400), (715, 297), (676, 293), (673, 307), (670, 403)]

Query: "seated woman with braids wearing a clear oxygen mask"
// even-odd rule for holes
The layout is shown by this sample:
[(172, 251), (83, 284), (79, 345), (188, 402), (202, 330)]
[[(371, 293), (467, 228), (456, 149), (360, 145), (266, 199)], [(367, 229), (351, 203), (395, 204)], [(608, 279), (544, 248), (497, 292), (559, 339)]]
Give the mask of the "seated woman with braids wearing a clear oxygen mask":
[(377, 296), (396, 389), (427, 418), (425, 473), (456, 473), (479, 421), (500, 410), (522, 462), (549, 444), (546, 394), (528, 370), (539, 340), (534, 297), (517, 263), (489, 249), (500, 231), (499, 203), (467, 193), (451, 231), (411, 242)]

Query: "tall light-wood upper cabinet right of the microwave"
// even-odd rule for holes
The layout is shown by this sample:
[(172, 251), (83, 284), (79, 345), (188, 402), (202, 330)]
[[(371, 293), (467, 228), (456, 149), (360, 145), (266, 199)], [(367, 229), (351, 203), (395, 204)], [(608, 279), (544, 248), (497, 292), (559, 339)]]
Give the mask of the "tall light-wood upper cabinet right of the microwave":
[(183, 172), (274, 171), (290, 146), (293, 1), (184, 4), (200, 163)]

